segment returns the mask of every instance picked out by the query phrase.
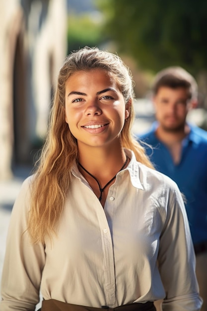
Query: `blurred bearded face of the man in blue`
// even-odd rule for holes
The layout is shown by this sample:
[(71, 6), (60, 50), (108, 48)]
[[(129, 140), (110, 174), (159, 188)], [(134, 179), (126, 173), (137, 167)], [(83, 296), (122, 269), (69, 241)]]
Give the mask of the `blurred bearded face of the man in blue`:
[(163, 130), (176, 132), (184, 128), (187, 113), (191, 108), (191, 101), (186, 88), (174, 89), (161, 86), (153, 101), (156, 119)]

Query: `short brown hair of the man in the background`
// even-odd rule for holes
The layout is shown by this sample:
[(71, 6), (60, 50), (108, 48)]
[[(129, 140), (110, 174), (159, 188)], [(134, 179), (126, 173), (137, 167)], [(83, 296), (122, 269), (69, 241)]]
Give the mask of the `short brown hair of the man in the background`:
[(181, 67), (168, 67), (155, 76), (152, 85), (154, 95), (162, 86), (174, 89), (183, 87), (188, 90), (190, 99), (198, 97), (198, 85), (195, 78)]

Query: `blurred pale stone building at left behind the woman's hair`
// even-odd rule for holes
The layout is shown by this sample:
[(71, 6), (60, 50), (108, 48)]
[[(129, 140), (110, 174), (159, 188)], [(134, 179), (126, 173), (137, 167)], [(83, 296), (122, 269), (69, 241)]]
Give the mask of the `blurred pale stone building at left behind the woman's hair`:
[(0, 179), (44, 139), (66, 51), (66, 0), (0, 1)]

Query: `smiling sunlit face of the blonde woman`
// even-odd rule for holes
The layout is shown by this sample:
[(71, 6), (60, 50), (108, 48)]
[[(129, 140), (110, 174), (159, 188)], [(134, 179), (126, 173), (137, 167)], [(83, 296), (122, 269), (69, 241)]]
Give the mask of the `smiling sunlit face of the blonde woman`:
[(107, 71), (74, 73), (66, 82), (66, 122), (78, 148), (104, 147), (120, 142), (129, 107)]

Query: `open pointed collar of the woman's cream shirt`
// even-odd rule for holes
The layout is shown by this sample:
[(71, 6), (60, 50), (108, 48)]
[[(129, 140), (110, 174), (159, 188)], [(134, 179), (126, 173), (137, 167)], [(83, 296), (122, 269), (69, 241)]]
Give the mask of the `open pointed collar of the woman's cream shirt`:
[[(143, 190), (143, 186), (142, 186), (141, 181), (139, 179), (139, 167), (138, 167), (138, 162), (137, 162), (136, 156), (135, 156), (134, 152), (132, 150), (129, 150), (129, 149), (125, 149), (125, 153), (127, 156), (129, 156), (130, 162), (129, 162), (128, 166), (125, 169), (123, 169), (121, 172), (118, 172), (118, 174), (125, 172), (125, 171), (126, 172), (128, 171), (130, 174), (130, 179), (131, 179), (132, 185), (135, 188)], [(85, 178), (79, 172), (76, 163), (74, 163), (74, 165), (72, 166), (71, 173), (73, 176), (80, 179), (82, 182), (84, 182), (84, 183), (86, 182)]]

